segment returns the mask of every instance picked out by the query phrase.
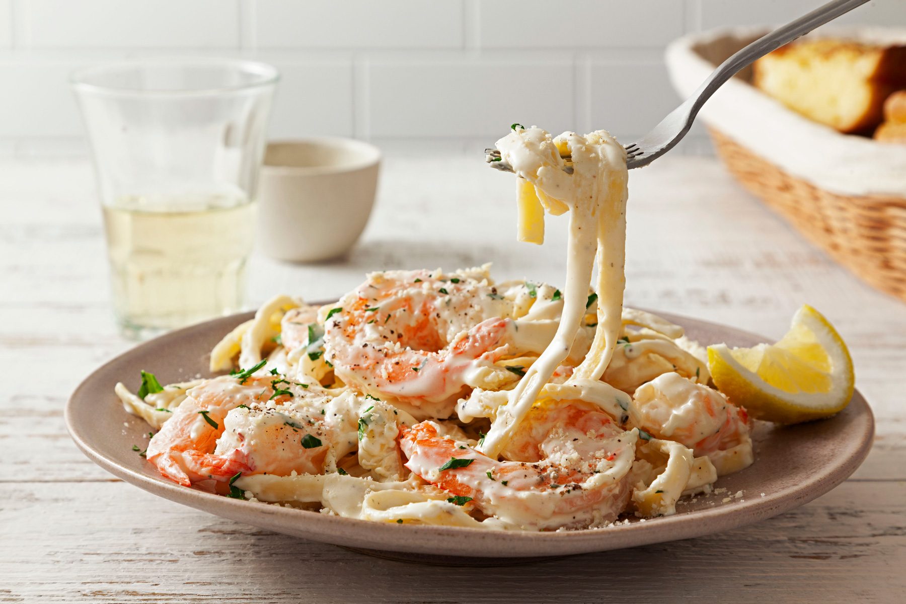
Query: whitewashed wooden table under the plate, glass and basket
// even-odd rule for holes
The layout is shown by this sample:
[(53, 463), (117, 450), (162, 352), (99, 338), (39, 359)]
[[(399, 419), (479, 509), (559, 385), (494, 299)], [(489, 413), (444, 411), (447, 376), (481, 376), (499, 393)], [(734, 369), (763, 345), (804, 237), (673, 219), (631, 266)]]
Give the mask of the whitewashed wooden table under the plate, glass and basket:
[[(323, 299), (366, 271), (494, 261), (558, 283), (564, 219), (517, 244), (514, 184), (480, 158), (391, 158), (343, 262), (253, 262), (251, 302)], [(868, 461), (794, 512), (724, 534), (509, 568), (383, 561), (158, 499), (88, 461), (63, 427), (72, 388), (130, 347), (108, 302), (92, 172), (0, 163), (0, 601), (497, 602), (906, 600), (906, 304), (806, 244), (718, 163), (631, 176), (627, 302), (777, 337), (803, 302), (843, 333), (878, 436)]]

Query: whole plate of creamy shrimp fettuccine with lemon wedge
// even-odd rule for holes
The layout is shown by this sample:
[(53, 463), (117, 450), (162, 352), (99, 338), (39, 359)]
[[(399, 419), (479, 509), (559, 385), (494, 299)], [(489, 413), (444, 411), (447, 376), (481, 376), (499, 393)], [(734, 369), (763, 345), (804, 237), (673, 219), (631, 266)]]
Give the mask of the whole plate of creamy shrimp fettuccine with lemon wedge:
[(564, 283), (488, 264), (280, 295), (95, 371), (67, 407), (75, 442), (173, 501), (421, 561), (724, 531), (853, 473), (872, 415), (820, 313), (764, 343), (624, 307), (622, 146), (519, 124), (496, 146), (520, 240), (570, 215)]

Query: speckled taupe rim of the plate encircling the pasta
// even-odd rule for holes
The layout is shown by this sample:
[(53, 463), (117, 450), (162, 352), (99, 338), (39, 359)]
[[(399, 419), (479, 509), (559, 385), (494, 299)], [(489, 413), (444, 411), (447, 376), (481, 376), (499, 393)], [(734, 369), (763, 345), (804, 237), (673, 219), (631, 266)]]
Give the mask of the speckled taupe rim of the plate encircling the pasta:
[[(757, 341), (766, 340), (746, 331), (739, 331), (708, 321), (689, 319), (666, 312), (658, 314), (687, 329), (698, 327), (723, 334), (725, 340), (728, 342), (733, 340), (732, 343), (735, 345), (748, 346)], [(124, 377), (120, 374), (119, 369), (122, 365), (146, 357), (149, 353), (158, 354), (168, 349), (176, 350), (176, 354), (178, 354), (178, 351), (182, 350), (184, 342), (204, 339), (205, 336), (209, 337), (211, 334), (217, 334), (219, 338), (236, 324), (246, 321), (252, 316), (252, 312), (240, 313), (171, 331), (120, 354), (93, 371), (75, 388), (66, 404), (65, 421), (72, 440), (93, 462), (123, 481), (170, 501), (217, 514), (236, 522), (352, 548), (487, 558), (562, 556), (615, 550), (656, 542), (688, 539), (756, 523), (808, 503), (819, 495), (827, 493), (853, 474), (855, 469), (862, 464), (872, 446), (874, 435), (872, 411), (863, 396), (856, 391), (849, 407), (844, 409), (840, 415), (823, 420), (824, 422), (846, 422), (843, 426), (846, 438), (837, 438), (824, 443), (829, 454), (826, 456), (824, 464), (800, 468), (798, 474), (802, 479), (796, 484), (764, 496), (751, 496), (745, 502), (734, 501), (726, 505), (716, 505), (706, 509), (651, 519), (644, 523), (632, 522), (598, 530), (541, 533), (372, 523), (265, 503), (243, 502), (188, 489), (170, 483), (160, 476), (137, 471), (130, 467), (135, 464), (135, 453), (126, 446), (121, 447), (121, 455), (119, 450), (116, 455), (104, 453), (101, 450), (103, 448), (101, 439), (92, 437), (90, 434), (89, 422), (92, 421), (92, 417), (96, 417), (98, 411), (96, 407), (92, 408), (93, 406), (115, 402), (115, 405), (104, 407), (103, 411), (117, 414), (116, 419), (119, 424), (123, 422), (128, 424), (130, 418), (137, 419), (122, 408), (119, 399), (112, 391), (112, 385)], [(99, 396), (95, 396), (95, 393), (99, 393)], [(814, 423), (803, 426), (810, 425), (814, 425)], [(147, 426), (145, 426), (145, 430), (147, 431)], [(833, 455), (830, 455), (831, 452)], [(147, 462), (144, 463), (147, 465)], [(719, 482), (718, 486), (720, 486)], [(148, 514), (151, 516), (153, 511), (149, 510)]]

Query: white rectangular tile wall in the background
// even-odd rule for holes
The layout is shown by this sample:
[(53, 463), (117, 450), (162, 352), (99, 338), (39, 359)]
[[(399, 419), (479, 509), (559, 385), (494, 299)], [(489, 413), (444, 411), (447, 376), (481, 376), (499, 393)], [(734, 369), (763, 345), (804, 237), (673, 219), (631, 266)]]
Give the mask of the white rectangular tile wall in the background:
[[(678, 102), (661, 58), (670, 40), (822, 2), (0, 0), (0, 153), (84, 149), (68, 74), (149, 54), (273, 62), (273, 138), (474, 151), (513, 121), (629, 138)], [(873, 0), (844, 20), (906, 28), (906, 2)], [(702, 129), (690, 137), (684, 149), (708, 149)]]

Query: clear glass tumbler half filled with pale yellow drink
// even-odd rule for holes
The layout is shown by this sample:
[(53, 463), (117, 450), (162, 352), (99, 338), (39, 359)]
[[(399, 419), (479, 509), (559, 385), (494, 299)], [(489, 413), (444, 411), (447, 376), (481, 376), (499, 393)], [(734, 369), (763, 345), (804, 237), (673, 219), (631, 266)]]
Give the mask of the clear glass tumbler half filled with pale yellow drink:
[(155, 59), (72, 75), (88, 129), (122, 331), (241, 309), (278, 79), (264, 63)]

